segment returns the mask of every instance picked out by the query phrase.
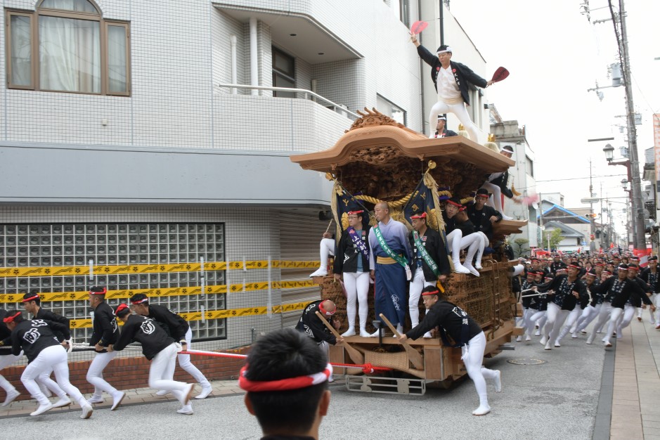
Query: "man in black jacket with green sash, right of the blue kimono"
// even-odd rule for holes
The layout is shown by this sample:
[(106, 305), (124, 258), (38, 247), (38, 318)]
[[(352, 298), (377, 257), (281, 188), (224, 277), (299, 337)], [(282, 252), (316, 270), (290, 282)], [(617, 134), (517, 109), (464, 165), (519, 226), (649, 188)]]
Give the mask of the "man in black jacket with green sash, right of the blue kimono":
[[(410, 261), (413, 279), (410, 280), (408, 311), (413, 328), (420, 323), (422, 289), (434, 286), (438, 281), (443, 282), (451, 272), (447, 248), (440, 234), (427, 227), (426, 219), (426, 212), (415, 212), (410, 216), (413, 231), (410, 231), (408, 241), (413, 248), (413, 261)], [(431, 338), (431, 332), (426, 332), (424, 337)]]

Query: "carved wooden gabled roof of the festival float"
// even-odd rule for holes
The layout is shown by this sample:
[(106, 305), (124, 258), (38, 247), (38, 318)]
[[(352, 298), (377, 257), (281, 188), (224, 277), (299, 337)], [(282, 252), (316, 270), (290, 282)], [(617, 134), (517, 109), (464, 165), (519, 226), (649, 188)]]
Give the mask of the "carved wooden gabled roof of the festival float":
[(431, 172), (436, 182), (460, 197), (477, 190), (486, 174), (503, 172), (515, 164), (463, 136), (429, 139), (375, 109), (359, 113), (362, 117), (332, 148), (291, 156), (292, 162), (335, 174), (349, 190), (381, 200), (410, 193), (429, 160), (437, 164)]

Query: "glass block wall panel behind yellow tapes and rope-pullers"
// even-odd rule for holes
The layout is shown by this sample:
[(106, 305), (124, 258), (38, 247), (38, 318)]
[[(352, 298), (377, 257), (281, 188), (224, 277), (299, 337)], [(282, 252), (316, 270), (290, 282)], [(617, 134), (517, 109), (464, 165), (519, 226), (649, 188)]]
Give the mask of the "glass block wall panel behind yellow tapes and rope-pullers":
[[(109, 291), (127, 291), (125, 295), (108, 299), (115, 306), (127, 301), (129, 290), (158, 289), (160, 297), (151, 297), (153, 304), (162, 304), (176, 313), (226, 309), (224, 293), (207, 295), (176, 295), (186, 287), (201, 285), (200, 271), (186, 271), (165, 264), (225, 261), (224, 224), (184, 223), (80, 223), (80, 224), (4, 224), (0, 225), (0, 295), (11, 295), (11, 302), (0, 307), (20, 308), (20, 297), (28, 290), (38, 290), (45, 299), (56, 292), (86, 292), (92, 285), (105, 285)], [(93, 260), (90, 279), (89, 261)], [(158, 266), (160, 264), (163, 266)], [(137, 271), (135, 266), (155, 265)], [(99, 267), (101, 266), (101, 267)], [(117, 267), (112, 267), (117, 266)], [(41, 270), (35, 270), (41, 268)], [(105, 268), (105, 270), (103, 270)], [(137, 273), (131, 273), (131, 269)], [(183, 269), (183, 270), (181, 270)], [(62, 271), (65, 275), (54, 275)], [(117, 273), (113, 273), (117, 271)], [(82, 273), (77, 275), (76, 273)], [(205, 271), (205, 285), (226, 283), (225, 271)], [(13, 296), (15, 295), (15, 297)], [(44, 300), (46, 309), (72, 320), (91, 318), (86, 299)], [(72, 295), (70, 295), (72, 296)], [(60, 299), (60, 298), (58, 298)], [(16, 301), (16, 302), (13, 302)], [(75, 326), (72, 325), (72, 328)], [(225, 339), (226, 320), (190, 321), (193, 339)], [(74, 328), (76, 343), (84, 343), (91, 328)]]

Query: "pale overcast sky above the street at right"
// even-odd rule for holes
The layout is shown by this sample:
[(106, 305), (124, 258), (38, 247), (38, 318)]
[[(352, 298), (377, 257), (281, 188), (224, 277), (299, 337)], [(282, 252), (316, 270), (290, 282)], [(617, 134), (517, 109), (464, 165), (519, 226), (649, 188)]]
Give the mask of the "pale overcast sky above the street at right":
[[(488, 88), (487, 97), (503, 119), (517, 119), (526, 127), (536, 155), (537, 193), (561, 192), (567, 207), (585, 206), (580, 199), (589, 196), (589, 180), (575, 178), (589, 176), (591, 159), (596, 197), (602, 184), (602, 197), (614, 200), (613, 209), (622, 209), (626, 168), (607, 165), (606, 142), (587, 141), (614, 136), (615, 158), (626, 144), (616, 127), (625, 124), (625, 118), (616, 117), (626, 112), (623, 86), (603, 89), (602, 101), (587, 91), (596, 81), (612, 84), (607, 68), (618, 61), (614, 27), (612, 21), (593, 24), (609, 18), (606, 0), (590, 0), (591, 22), (581, 14), (582, 2), (451, 0), (450, 10), (486, 59), (488, 75), (500, 65), (510, 71), (505, 81)], [(633, 102), (642, 114), (637, 126), (641, 171), (644, 150), (653, 146), (652, 114), (660, 112), (660, 60), (654, 60), (660, 57), (660, 1), (627, 0), (626, 12)], [(445, 40), (451, 44), (451, 35)], [(460, 61), (460, 53), (453, 58)]]

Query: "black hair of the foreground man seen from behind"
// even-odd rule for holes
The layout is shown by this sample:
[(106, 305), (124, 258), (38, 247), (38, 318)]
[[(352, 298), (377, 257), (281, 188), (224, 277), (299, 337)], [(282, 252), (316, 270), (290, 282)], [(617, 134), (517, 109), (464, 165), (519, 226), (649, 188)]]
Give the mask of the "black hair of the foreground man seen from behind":
[[(247, 356), (248, 380), (269, 381), (312, 375), (325, 370), (328, 359), (310, 337), (283, 328), (260, 337)], [(264, 434), (287, 429), (291, 434), (308, 432), (328, 382), (276, 392), (248, 392), (254, 414)]]

